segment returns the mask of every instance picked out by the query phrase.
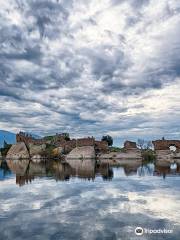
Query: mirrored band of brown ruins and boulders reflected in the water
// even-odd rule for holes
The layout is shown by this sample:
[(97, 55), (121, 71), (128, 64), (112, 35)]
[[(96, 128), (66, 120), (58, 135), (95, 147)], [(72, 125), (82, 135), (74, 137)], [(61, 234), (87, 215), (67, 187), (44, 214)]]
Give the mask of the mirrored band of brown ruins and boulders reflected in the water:
[[(96, 162), (93, 159), (71, 159), (67, 162), (55, 160), (31, 161), (31, 160), (7, 160), (0, 162), (1, 179), (12, 173), (16, 175), (16, 183), (19, 186), (31, 183), (36, 178), (48, 177), (56, 181), (67, 181), (78, 177), (84, 180), (94, 180), (101, 177), (103, 180), (112, 180), (115, 169), (121, 169), (125, 176), (177, 176), (180, 175), (180, 167), (171, 169), (170, 165), (143, 165), (138, 161), (126, 161), (116, 165), (111, 162)], [(3, 174), (2, 174), (3, 173)]]

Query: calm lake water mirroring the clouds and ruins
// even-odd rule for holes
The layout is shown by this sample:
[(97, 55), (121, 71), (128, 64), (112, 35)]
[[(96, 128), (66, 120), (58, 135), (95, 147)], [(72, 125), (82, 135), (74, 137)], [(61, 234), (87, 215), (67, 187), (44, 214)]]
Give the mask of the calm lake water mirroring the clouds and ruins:
[[(0, 165), (0, 240), (180, 239), (179, 167)], [(137, 226), (173, 233), (136, 236)]]

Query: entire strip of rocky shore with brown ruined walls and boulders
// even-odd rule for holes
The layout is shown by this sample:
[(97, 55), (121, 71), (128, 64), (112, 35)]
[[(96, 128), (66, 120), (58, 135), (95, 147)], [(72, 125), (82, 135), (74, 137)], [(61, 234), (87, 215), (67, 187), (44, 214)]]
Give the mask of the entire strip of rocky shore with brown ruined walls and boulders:
[[(142, 162), (150, 159), (156, 161), (157, 164), (180, 163), (179, 140), (153, 141), (154, 149), (147, 151), (137, 147), (136, 142), (132, 141), (125, 141), (123, 148), (111, 148), (108, 146), (108, 142), (97, 141), (93, 137), (70, 140), (62, 134), (34, 139), (19, 133), (16, 139), (16, 144), (10, 146), (6, 152), (6, 156), (4, 156), (6, 159), (31, 159), (34, 161), (96, 159), (111, 164), (131, 160)], [(1, 152), (0, 158), (2, 158)]]

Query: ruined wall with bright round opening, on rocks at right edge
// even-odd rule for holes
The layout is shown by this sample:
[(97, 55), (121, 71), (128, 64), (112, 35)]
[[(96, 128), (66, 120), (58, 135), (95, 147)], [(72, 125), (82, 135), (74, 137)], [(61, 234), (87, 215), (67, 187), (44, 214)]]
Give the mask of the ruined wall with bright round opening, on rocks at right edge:
[(180, 163), (180, 140), (162, 139), (153, 141), (152, 143), (157, 163)]

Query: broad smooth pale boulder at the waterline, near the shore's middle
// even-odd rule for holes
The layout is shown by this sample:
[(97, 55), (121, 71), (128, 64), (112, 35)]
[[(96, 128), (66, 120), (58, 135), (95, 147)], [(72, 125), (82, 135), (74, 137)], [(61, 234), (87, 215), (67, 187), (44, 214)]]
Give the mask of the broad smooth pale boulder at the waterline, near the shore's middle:
[(67, 160), (85, 158), (95, 158), (95, 150), (93, 146), (76, 147), (66, 156)]

